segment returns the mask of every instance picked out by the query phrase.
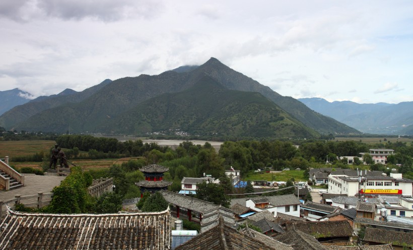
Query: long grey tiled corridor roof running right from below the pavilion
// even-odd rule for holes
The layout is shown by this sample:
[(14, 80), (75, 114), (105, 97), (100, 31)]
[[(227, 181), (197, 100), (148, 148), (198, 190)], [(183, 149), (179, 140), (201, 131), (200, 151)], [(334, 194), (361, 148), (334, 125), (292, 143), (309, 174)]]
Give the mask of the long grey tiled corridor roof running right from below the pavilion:
[(190, 208), (192, 211), (195, 211), (200, 214), (204, 214), (214, 209), (216, 210), (220, 207), (219, 205), (215, 205), (211, 202), (205, 202), (193, 197), (183, 196), (165, 190), (161, 191), (161, 194), (167, 202), (172, 203), (181, 208)]

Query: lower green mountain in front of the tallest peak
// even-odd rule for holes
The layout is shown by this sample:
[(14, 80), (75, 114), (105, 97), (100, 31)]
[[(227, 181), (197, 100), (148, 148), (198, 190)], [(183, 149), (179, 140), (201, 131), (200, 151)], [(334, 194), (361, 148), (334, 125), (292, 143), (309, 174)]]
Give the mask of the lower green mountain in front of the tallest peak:
[(257, 92), (229, 90), (209, 76), (192, 87), (144, 101), (106, 123), (105, 133), (181, 130), (191, 135), (282, 138), (317, 136)]

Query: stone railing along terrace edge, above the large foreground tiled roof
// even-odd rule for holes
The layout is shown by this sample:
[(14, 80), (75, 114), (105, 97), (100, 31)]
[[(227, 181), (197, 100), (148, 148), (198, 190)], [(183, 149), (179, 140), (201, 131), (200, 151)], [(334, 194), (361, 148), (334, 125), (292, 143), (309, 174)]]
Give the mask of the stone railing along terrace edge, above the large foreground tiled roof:
[(21, 196), (16, 195), (15, 198), (7, 200), (7, 201), (0, 201), (0, 218), (5, 216), (6, 205), (11, 207), (12, 209), (16, 208), (17, 204), (23, 204), (26, 207), (37, 207), (42, 208), (50, 204), (51, 198), (53, 193), (38, 193), (37, 195), (28, 195), (28, 196)]

